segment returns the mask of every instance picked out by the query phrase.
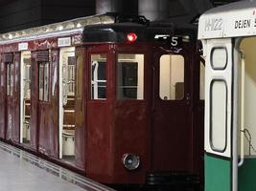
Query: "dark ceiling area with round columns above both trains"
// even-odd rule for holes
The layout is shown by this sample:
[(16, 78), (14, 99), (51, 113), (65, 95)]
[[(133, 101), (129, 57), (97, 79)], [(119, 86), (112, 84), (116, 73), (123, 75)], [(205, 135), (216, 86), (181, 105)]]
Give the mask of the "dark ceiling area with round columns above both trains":
[(234, 1), (237, 0), (0, 0), (0, 32), (105, 11), (143, 14), (151, 20), (170, 18), (176, 22), (190, 22), (203, 11)]

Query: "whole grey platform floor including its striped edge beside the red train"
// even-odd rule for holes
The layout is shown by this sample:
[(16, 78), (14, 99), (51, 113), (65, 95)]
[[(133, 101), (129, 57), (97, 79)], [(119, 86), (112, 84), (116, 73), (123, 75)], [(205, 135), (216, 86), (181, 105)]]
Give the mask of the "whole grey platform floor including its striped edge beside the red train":
[[(46, 163), (47, 161), (38, 160), (40, 164), (38, 165), (36, 157), (33, 158), (31, 154), (0, 142), (0, 191), (112, 190), (105, 185), (88, 179), (85, 181), (89, 182), (89, 187), (84, 186), (85, 188), (82, 188), (74, 180), (68, 181), (72, 178), (72, 176), (67, 176), (68, 171), (62, 169), (59, 174), (57, 172), (53, 173), (54, 170), (46, 170), (42, 167), (49, 165)], [(66, 175), (66, 180), (63, 179), (63, 175)]]

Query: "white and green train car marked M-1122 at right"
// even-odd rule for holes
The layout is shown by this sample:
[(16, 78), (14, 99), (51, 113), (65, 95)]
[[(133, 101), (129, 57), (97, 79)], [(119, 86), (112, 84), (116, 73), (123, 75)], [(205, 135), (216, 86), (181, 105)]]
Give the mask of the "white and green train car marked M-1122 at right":
[(205, 191), (256, 190), (256, 1), (205, 12)]

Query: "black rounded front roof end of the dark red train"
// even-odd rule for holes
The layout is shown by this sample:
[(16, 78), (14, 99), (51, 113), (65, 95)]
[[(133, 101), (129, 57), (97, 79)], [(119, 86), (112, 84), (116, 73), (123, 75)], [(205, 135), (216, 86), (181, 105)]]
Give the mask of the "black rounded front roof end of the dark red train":
[(153, 42), (158, 37), (183, 36), (190, 42), (197, 40), (197, 27), (178, 26), (174, 23), (114, 23), (84, 27), (83, 43), (127, 42), (128, 33), (135, 33), (136, 42)]

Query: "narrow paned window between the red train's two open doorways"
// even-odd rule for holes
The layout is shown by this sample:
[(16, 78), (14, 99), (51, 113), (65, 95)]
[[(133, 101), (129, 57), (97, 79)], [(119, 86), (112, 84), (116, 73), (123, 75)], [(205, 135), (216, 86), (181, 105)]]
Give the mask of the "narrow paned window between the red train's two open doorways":
[(49, 62), (39, 62), (39, 100), (49, 100)]

